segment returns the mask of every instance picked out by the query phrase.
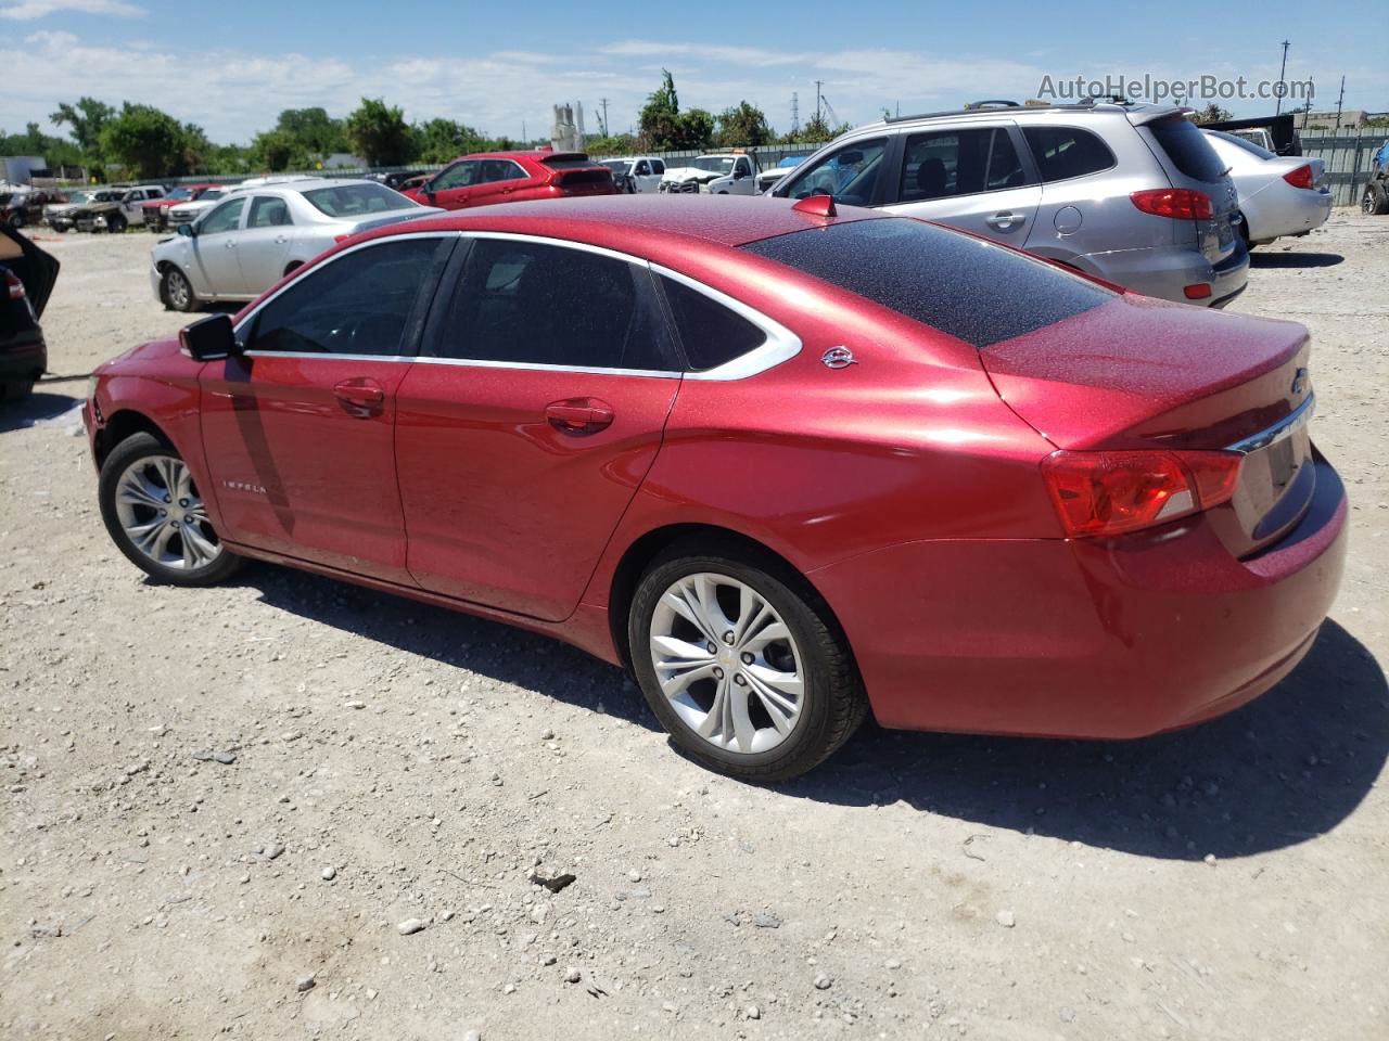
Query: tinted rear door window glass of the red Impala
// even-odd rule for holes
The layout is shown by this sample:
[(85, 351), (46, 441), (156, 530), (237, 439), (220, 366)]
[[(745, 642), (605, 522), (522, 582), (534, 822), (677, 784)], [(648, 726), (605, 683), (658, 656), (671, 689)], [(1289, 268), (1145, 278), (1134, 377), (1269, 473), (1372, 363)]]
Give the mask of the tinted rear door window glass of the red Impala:
[(674, 368), (644, 268), (510, 239), (474, 240), (433, 353), (515, 365)]

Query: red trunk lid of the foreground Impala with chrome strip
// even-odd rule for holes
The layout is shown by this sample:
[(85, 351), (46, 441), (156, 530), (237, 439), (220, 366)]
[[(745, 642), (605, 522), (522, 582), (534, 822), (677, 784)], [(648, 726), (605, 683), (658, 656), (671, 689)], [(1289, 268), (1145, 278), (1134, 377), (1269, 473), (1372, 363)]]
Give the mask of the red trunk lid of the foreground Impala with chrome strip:
[(1315, 489), (1307, 330), (1124, 296), (983, 347), (999, 396), (1058, 448), (1233, 450), (1233, 500), (1208, 516), (1245, 557), (1301, 518)]

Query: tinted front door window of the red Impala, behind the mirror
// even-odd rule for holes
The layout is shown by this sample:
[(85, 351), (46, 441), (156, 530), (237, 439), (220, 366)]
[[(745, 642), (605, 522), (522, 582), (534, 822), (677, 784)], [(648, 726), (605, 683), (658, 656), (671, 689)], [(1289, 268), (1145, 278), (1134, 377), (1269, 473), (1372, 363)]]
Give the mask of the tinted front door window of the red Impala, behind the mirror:
[(439, 237), (385, 240), (308, 272), (253, 319), (246, 350), (399, 355)]

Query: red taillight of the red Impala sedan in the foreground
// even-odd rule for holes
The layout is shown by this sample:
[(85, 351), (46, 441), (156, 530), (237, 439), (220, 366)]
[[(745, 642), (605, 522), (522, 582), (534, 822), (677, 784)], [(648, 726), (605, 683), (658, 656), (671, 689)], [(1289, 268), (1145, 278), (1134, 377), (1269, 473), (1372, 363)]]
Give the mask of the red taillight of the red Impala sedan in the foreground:
[(1093, 539), (1229, 501), (1243, 458), (1220, 451), (1058, 451), (1042, 461), (1042, 477), (1065, 534)]

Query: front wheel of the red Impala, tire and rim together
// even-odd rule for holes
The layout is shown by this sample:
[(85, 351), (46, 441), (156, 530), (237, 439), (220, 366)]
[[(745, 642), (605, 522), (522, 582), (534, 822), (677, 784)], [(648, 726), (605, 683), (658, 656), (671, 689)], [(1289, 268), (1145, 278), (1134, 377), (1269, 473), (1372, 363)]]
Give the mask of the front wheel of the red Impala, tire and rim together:
[(213, 586), (242, 566), (213, 530), (188, 464), (153, 434), (132, 434), (111, 450), (97, 501), (117, 548), (160, 582)]

